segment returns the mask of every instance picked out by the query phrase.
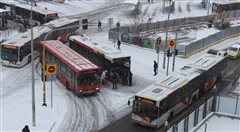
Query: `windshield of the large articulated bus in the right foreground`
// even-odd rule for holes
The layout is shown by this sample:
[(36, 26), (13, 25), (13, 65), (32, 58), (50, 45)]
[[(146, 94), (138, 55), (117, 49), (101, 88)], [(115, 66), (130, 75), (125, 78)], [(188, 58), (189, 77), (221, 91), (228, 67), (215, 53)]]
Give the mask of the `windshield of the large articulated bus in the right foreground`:
[(139, 116), (146, 116), (151, 120), (158, 118), (158, 107), (156, 105), (146, 104), (138, 100), (133, 102), (133, 113)]

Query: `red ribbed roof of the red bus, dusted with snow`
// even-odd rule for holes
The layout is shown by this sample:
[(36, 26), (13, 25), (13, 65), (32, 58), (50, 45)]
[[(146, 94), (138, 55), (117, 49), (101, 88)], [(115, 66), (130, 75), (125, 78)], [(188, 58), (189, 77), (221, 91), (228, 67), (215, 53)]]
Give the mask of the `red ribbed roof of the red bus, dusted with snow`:
[[(42, 42), (41, 45), (44, 45)], [(62, 61), (69, 65), (78, 74), (81, 71), (100, 69), (98, 66), (58, 40), (46, 41), (44, 46), (46, 50), (54, 54), (56, 57), (62, 59)]]

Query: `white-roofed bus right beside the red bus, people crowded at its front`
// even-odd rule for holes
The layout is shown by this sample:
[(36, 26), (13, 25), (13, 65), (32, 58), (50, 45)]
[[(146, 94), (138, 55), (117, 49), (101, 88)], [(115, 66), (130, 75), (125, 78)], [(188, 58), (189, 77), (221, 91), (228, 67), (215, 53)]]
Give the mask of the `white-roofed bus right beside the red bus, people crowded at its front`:
[(130, 72), (130, 56), (124, 55), (121, 51), (110, 48), (87, 36), (70, 36), (69, 47), (88, 58), (103, 70), (107, 70), (106, 78), (110, 81), (111, 73), (116, 73), (121, 83), (124, 72)]

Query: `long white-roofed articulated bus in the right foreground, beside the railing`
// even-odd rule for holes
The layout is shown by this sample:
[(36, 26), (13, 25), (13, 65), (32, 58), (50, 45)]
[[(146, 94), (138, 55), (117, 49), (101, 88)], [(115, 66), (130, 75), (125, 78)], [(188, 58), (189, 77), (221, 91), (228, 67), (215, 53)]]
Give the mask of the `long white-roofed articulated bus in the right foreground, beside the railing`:
[[(224, 56), (206, 54), (179, 72), (150, 85), (133, 98), (133, 121), (159, 128), (221, 82)], [(129, 102), (128, 102), (129, 103)]]

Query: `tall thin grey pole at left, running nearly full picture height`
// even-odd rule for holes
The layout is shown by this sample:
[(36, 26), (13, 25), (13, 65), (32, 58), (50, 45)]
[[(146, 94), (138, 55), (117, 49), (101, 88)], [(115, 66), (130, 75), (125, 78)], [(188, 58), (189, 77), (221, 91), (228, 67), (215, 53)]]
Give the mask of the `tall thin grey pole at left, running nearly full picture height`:
[(34, 45), (33, 45), (33, 23), (32, 23), (32, 6), (33, 0), (31, 0), (31, 14), (30, 14), (30, 25), (31, 25), (31, 64), (32, 64), (32, 125), (36, 126), (36, 112), (35, 112), (35, 88), (34, 88)]

